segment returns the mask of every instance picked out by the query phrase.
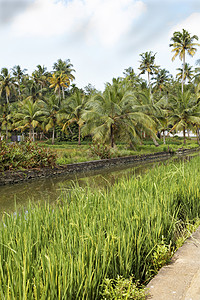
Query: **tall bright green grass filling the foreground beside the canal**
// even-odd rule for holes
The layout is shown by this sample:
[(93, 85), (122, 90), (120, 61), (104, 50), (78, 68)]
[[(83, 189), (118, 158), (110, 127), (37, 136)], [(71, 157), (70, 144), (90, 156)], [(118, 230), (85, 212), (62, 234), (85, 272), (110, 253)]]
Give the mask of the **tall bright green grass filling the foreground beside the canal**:
[(153, 270), (163, 237), (200, 214), (200, 158), (122, 179), (108, 191), (76, 187), (54, 207), (30, 205), (0, 223), (0, 299), (102, 299), (105, 278)]

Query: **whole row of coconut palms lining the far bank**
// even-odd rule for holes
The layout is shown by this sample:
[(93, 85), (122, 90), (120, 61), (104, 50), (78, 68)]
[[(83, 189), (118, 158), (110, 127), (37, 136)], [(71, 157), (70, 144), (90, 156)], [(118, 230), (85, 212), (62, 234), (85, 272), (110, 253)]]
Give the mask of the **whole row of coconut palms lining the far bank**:
[[(155, 64), (156, 54), (142, 53), (140, 73), (130, 67), (124, 76), (107, 83), (103, 92), (91, 84), (77, 88), (70, 60), (59, 59), (53, 71), (37, 66), (31, 76), (26, 69), (15, 66), (10, 72), (2, 68), (0, 74), (0, 130), (8, 138), (9, 132), (25, 132), (34, 140), (51, 134), (52, 143), (58, 131), (71, 131), (73, 123), (81, 136), (110, 143), (125, 141), (130, 145), (151, 138), (157, 144), (157, 133), (192, 130), (199, 141), (200, 127), (200, 68), (194, 70), (186, 63), (186, 53), (193, 56), (198, 43), (185, 29), (174, 32), (171, 38), (173, 60), (179, 56), (182, 68), (174, 79)], [(200, 61), (197, 60), (197, 65)], [(141, 78), (147, 73), (148, 80)]]

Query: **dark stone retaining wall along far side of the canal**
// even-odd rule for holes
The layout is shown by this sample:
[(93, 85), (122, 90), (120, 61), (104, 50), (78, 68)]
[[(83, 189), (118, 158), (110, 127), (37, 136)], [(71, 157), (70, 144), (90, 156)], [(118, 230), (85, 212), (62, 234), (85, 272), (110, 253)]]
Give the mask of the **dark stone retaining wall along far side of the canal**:
[(162, 161), (167, 160), (174, 155), (189, 155), (198, 151), (200, 151), (200, 147), (193, 149), (179, 149), (176, 152), (157, 152), (145, 155), (134, 155), (127, 157), (74, 163), (64, 166), (56, 166), (54, 168), (31, 169), (23, 171), (4, 171), (1, 172), (0, 186), (7, 184), (15, 184), (31, 179), (50, 178), (59, 175), (80, 174), (95, 170), (109, 169), (118, 166), (127, 166), (129, 164), (138, 165), (154, 161)]

